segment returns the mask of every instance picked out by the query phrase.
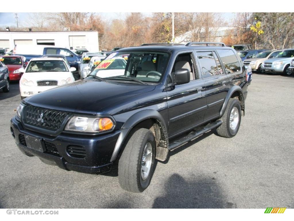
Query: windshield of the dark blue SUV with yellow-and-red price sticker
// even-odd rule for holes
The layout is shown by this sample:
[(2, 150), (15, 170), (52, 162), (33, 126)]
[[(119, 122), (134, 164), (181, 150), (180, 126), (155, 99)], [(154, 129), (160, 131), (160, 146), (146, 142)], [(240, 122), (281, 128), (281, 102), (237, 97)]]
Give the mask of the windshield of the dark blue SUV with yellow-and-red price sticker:
[(168, 61), (169, 54), (164, 52), (114, 52), (90, 76), (132, 83), (158, 83), (166, 71)]

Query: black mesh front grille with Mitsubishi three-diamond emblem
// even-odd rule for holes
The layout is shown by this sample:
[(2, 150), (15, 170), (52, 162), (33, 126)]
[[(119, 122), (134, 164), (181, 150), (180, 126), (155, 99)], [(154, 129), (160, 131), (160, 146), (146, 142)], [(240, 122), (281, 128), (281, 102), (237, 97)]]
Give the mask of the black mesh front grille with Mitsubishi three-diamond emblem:
[(69, 115), (68, 112), (39, 108), (32, 105), (27, 105), (23, 112), (24, 123), (54, 131), (60, 128), (60, 125)]

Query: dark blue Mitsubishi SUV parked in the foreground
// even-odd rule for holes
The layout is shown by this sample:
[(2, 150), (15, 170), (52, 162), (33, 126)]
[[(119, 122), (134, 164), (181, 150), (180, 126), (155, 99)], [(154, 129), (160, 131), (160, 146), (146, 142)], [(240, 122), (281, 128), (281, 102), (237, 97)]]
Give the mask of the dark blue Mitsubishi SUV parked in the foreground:
[[(124, 71), (109, 77), (108, 67), (120, 68), (114, 63), (122, 55), (128, 55)], [(90, 174), (118, 164), (120, 186), (142, 192), (155, 159), (165, 161), (169, 151), (213, 129), (228, 138), (238, 132), (246, 70), (223, 43), (123, 48), (98, 67), (84, 80), (20, 103), (10, 130), (24, 154)]]

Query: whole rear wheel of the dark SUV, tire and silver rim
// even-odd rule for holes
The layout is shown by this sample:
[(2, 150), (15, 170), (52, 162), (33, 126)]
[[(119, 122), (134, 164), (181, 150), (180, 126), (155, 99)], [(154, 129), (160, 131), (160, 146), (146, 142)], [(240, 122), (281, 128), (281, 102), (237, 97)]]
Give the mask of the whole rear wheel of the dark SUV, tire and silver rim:
[(225, 113), (220, 119), (223, 123), (216, 129), (218, 135), (227, 138), (235, 136), (241, 122), (241, 105), (237, 98), (230, 98)]

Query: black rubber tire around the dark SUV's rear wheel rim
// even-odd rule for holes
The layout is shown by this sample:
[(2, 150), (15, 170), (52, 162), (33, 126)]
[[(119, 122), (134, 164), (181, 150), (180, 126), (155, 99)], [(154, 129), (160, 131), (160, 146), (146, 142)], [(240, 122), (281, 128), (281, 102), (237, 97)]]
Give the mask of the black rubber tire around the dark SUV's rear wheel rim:
[[(233, 108), (236, 107), (238, 109), (238, 123), (235, 129), (231, 129), (230, 127), (230, 114)], [(227, 108), (225, 109), (225, 113), (220, 118), (223, 123), (216, 129), (216, 132), (219, 136), (231, 138), (238, 133), (240, 123), (241, 123), (241, 105), (238, 98), (230, 98)]]

